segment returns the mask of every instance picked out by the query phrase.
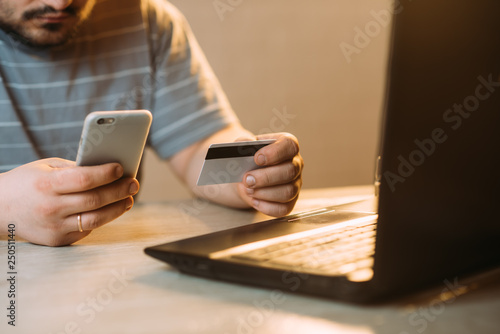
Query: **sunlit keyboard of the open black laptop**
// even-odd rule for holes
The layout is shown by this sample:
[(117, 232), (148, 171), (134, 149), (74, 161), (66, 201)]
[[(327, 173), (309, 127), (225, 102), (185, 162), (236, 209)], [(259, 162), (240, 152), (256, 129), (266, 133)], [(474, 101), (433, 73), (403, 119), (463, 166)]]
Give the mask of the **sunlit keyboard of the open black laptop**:
[(375, 234), (376, 219), (234, 254), (232, 258), (295, 271), (352, 276), (373, 267)]

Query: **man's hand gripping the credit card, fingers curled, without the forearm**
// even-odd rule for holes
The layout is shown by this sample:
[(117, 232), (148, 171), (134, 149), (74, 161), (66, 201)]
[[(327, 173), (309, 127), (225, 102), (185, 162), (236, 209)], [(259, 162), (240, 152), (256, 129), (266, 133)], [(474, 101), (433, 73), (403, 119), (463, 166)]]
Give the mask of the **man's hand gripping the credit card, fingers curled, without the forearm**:
[(280, 217), (292, 211), (302, 187), (304, 160), (297, 138), (288, 133), (266, 134), (256, 139), (276, 139), (254, 156), (263, 168), (250, 171), (238, 184), (240, 197), (260, 212)]

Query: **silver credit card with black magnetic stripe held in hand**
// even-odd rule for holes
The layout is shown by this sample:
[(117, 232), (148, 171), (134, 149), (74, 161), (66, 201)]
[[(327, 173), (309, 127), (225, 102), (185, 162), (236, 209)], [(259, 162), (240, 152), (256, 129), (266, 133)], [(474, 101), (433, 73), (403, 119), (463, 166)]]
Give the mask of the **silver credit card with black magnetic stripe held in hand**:
[(241, 182), (246, 172), (261, 167), (254, 162), (255, 153), (275, 141), (266, 139), (210, 145), (197, 185)]

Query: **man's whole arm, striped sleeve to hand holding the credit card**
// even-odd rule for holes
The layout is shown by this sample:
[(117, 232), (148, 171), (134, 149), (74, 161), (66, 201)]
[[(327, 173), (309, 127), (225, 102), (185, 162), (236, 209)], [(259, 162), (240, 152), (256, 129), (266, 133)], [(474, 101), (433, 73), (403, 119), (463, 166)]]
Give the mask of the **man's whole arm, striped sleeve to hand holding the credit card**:
[[(298, 153), (297, 139), (290, 134), (256, 137), (243, 129), (238, 124), (187, 21), (168, 2), (161, 4), (161, 8), (152, 8), (146, 14), (152, 31), (162, 37), (154, 41), (153, 47), (154, 58), (161, 60), (158, 73), (165, 74), (156, 76), (155, 82), (162, 93), (157, 94), (155, 105), (175, 106), (181, 103), (183, 112), (160, 111), (161, 117), (156, 117), (156, 121), (153, 121), (152, 146), (161, 157), (169, 158), (175, 173), (200, 197), (236, 208), (253, 207), (273, 216), (282, 216), (290, 212), (302, 185), (303, 161)], [(183, 66), (179, 67), (180, 64)], [(174, 68), (175, 76), (168, 75)], [(178, 68), (184, 70), (179, 71)], [(183, 87), (182, 91), (175, 90), (170, 93), (165, 93), (169, 90), (162, 91), (164, 87), (172, 87), (182, 81), (193, 84)], [(185, 104), (188, 96), (196, 103)], [(178, 126), (172, 127), (171, 124)], [(231, 125), (208, 138), (201, 139), (210, 131), (219, 129), (221, 124)], [(195, 137), (196, 139), (193, 139)], [(187, 148), (179, 148), (181, 151), (174, 153), (177, 152), (177, 148), (167, 138), (174, 144), (188, 141), (196, 143)], [(232, 142), (237, 139), (264, 138), (276, 138), (277, 141), (256, 154), (256, 159), (261, 155), (265, 159), (265, 162), (260, 163), (257, 160), (257, 163), (266, 168), (249, 172), (244, 176), (244, 180), (251, 180), (253, 177), (254, 184), (245, 182), (196, 186), (198, 173), (210, 144)]]

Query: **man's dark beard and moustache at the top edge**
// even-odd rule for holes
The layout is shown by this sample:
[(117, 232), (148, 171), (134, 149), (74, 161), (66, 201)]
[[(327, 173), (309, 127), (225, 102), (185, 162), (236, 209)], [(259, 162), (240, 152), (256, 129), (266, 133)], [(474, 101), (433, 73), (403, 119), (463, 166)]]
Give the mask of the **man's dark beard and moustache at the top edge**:
[[(31, 48), (46, 49), (62, 46), (69, 43), (76, 35), (83, 21), (90, 15), (95, 0), (89, 0), (81, 9), (69, 6), (62, 11), (55, 10), (51, 6), (32, 9), (22, 14), (17, 21), (4, 20), (0, 18), (0, 29), (4, 30), (15, 41)], [(9, 17), (8, 11), (5, 12)], [(36, 21), (44, 15), (61, 14), (66, 19), (62, 22), (45, 22), (36, 24)], [(10, 16), (12, 17), (12, 16)]]

